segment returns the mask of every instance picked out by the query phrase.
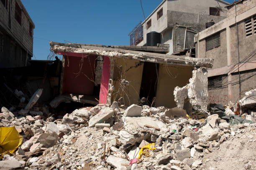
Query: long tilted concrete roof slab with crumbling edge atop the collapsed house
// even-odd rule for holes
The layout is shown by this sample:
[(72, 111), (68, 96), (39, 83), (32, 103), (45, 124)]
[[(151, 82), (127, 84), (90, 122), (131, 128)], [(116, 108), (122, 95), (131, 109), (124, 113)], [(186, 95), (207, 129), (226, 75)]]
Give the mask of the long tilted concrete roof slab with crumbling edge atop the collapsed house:
[[(81, 53), (89, 55), (100, 55), (109, 57), (124, 57), (127, 59), (145, 62), (156, 62), (170, 65), (190, 65), (195, 67), (212, 68), (213, 59), (192, 58), (176, 55), (159, 54), (153, 52), (141, 52), (136, 50), (123, 50), (111, 47), (86, 46), (84, 44), (64, 44), (50, 41), (51, 50), (56, 54), (68, 55), (70, 53)], [(81, 55), (82, 56), (82, 55)]]

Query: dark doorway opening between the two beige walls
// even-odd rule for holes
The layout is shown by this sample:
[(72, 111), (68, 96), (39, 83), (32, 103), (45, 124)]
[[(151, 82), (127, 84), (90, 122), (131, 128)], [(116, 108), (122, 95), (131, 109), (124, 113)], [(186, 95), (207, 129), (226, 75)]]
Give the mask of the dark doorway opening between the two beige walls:
[(158, 68), (159, 64), (154, 62), (144, 62), (143, 65), (140, 98), (145, 97), (150, 105), (156, 97)]

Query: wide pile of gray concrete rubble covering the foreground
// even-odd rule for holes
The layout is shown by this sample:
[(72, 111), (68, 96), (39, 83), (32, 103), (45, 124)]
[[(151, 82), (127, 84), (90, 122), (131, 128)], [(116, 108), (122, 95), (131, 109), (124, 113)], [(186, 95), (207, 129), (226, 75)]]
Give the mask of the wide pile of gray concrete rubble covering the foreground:
[(55, 120), (40, 111), (15, 115), (3, 107), (0, 126), (15, 126), (23, 144), (14, 155), (3, 155), (0, 165), (38, 170), (202, 169), (203, 156), (224, 141), (247, 138), (248, 129), (256, 134), (254, 112), (241, 121), (227, 108), (214, 105), (214, 114), (195, 120), (177, 107), (122, 109), (113, 102), (76, 109)]

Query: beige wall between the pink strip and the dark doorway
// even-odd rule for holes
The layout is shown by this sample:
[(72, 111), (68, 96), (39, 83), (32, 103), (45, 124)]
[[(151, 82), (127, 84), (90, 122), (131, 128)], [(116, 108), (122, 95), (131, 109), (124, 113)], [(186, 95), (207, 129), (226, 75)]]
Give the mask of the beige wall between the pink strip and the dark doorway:
[[(120, 97), (123, 97), (126, 106), (138, 103), (143, 72), (143, 63), (138, 65), (139, 63), (140, 61), (138, 60), (124, 58), (115, 59), (113, 80), (115, 90), (113, 92), (113, 101), (118, 101)], [(120, 72), (118, 73), (119, 69), (122, 70), (122, 79), (129, 82), (129, 85), (125, 87), (125, 92), (122, 95), (120, 95), (122, 90), (120, 90), (120, 82), (118, 80), (120, 79)]]

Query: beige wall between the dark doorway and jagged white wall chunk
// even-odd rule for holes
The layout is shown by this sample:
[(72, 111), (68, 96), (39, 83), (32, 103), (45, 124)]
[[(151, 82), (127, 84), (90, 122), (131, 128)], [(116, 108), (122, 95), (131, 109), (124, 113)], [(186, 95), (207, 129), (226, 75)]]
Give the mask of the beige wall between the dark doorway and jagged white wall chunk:
[(177, 107), (173, 91), (176, 86), (183, 87), (192, 77), (193, 67), (159, 64), (156, 90), (156, 106)]

